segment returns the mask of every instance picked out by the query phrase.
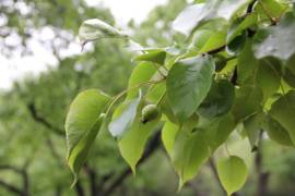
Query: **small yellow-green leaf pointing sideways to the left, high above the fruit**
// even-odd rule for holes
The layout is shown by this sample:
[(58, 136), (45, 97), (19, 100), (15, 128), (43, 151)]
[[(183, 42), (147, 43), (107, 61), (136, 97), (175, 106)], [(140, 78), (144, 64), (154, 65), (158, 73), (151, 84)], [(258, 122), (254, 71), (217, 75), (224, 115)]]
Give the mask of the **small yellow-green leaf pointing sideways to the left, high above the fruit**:
[(166, 51), (152, 50), (152, 51), (148, 51), (146, 53), (143, 53), (141, 56), (138, 56), (134, 60), (135, 61), (149, 61), (149, 62), (154, 62), (154, 63), (163, 65), (165, 63), (165, 59), (166, 59)]

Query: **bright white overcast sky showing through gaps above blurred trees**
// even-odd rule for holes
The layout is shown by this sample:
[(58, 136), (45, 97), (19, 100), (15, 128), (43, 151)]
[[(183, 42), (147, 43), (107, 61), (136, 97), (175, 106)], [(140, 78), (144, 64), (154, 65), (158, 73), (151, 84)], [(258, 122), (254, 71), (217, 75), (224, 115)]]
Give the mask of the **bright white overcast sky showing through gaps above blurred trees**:
[[(125, 25), (129, 20), (133, 19), (137, 23), (142, 22), (149, 12), (158, 4), (167, 2), (167, 0), (85, 0), (93, 7), (110, 8), (118, 25)], [(38, 33), (38, 36), (50, 38), (50, 29)], [(13, 41), (13, 40), (12, 40)], [(57, 60), (46, 50), (38, 41), (32, 40), (30, 44), (34, 56), (15, 57), (7, 59), (0, 53), (0, 89), (9, 89), (12, 82), (21, 79), (24, 75), (34, 76), (39, 72), (46, 71), (48, 65), (55, 66)], [(72, 51), (68, 53), (80, 52), (80, 46), (73, 44), (70, 47)]]

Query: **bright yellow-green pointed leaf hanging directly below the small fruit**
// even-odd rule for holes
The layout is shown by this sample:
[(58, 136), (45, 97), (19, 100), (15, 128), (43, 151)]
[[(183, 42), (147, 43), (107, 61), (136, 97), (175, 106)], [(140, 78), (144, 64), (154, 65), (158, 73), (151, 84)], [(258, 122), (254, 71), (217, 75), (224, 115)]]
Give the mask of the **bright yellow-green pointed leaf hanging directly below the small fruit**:
[(130, 131), (128, 131), (121, 138), (119, 138), (118, 146), (122, 158), (130, 166), (133, 173), (135, 173), (135, 166), (144, 151), (144, 146), (157, 127), (160, 117), (157, 120), (142, 123), (140, 117), (135, 119)]

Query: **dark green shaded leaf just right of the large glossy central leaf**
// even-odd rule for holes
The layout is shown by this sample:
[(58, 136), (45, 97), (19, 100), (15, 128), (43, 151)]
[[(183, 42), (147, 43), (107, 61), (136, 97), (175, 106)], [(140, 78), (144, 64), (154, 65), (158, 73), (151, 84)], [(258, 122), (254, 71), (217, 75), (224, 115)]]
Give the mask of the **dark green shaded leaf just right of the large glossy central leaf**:
[(204, 101), (200, 105), (198, 113), (204, 118), (215, 118), (227, 113), (235, 99), (235, 88), (227, 79), (213, 82)]

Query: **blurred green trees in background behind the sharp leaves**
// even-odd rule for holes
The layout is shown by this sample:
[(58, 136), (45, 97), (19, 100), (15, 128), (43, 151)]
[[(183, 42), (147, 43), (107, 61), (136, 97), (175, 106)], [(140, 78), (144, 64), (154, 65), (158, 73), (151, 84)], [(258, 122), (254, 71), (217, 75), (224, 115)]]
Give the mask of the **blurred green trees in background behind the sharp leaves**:
[[(134, 40), (144, 46), (167, 46), (184, 39), (167, 29), (186, 3), (173, 0), (155, 8), (142, 24), (131, 21), (129, 28), (135, 32)], [(109, 10), (90, 8), (82, 0), (0, 1), (1, 53), (9, 58), (17, 53), (30, 56), (30, 41), (37, 39), (57, 59), (57, 66), (48, 72), (34, 78), (27, 75), (12, 89), (1, 93), (0, 195), (176, 195), (176, 174), (163, 158), (156, 139), (150, 140), (137, 176), (132, 176), (108, 133), (99, 135), (104, 138), (99, 139), (99, 148), (93, 148), (81, 181), (69, 188), (72, 176), (64, 160), (63, 131), (69, 102), (79, 91), (91, 87), (116, 95), (126, 86), (135, 65), (125, 44), (116, 40), (102, 40), (90, 51), (63, 57), (61, 51), (72, 47), (80, 24), (92, 17), (115, 24)], [(38, 38), (36, 32), (44, 28), (54, 32), (51, 40)], [(10, 39), (16, 41), (11, 44)], [(236, 148), (243, 151), (245, 146)], [(266, 183), (268, 195), (293, 195), (288, 193), (295, 191), (294, 150), (264, 140), (263, 148), (249, 161), (256, 162), (251, 169), (255, 175), (240, 195), (257, 193), (258, 181)], [(224, 195), (214, 160), (179, 194)]]

